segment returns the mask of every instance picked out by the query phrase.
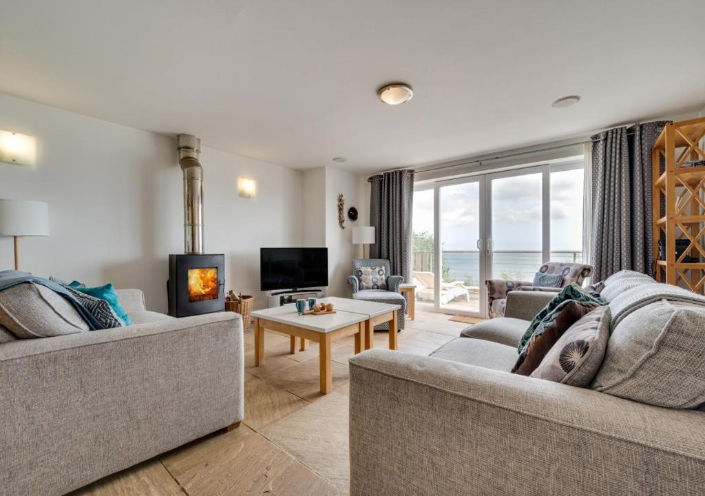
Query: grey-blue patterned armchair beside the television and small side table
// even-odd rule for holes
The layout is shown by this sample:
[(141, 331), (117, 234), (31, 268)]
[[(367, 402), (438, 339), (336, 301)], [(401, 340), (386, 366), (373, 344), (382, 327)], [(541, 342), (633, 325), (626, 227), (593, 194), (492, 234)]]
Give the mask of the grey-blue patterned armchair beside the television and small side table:
[[(373, 287), (370, 289), (362, 289), (364, 267), (384, 267), (384, 284), (377, 284), (376, 278), (373, 277), (367, 281)], [(373, 271), (374, 272), (374, 271)], [(367, 279), (367, 277), (365, 277)], [(381, 282), (381, 281), (379, 281)], [(406, 298), (399, 293), (399, 285), (404, 282), (401, 276), (391, 275), (389, 260), (381, 258), (362, 258), (353, 260), (353, 275), (348, 277), (348, 284), (353, 288), (353, 299), (374, 301), (376, 303), (392, 303), (400, 305), (401, 308), (397, 312), (397, 328), (404, 329), (405, 313), (406, 313)], [(382, 287), (374, 287), (374, 286)], [(384, 289), (383, 289), (384, 288)], [(375, 330), (388, 330), (389, 324), (385, 322), (374, 327)]]

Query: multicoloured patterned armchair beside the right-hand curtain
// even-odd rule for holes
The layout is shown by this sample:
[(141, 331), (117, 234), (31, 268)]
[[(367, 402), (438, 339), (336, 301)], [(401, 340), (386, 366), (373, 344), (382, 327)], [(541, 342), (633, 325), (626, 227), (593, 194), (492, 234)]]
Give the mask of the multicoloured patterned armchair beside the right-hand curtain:
[(541, 288), (532, 286), (532, 281), (505, 281), (504, 279), (488, 279), (487, 286), (487, 310), (489, 317), (504, 317), (504, 308), (507, 305), (507, 293), (509, 291), (552, 291), (558, 293), (561, 288), (573, 282), (582, 284), (586, 277), (592, 273), (592, 266), (582, 263), (572, 262), (548, 262), (541, 265), (538, 272), (544, 274), (561, 274), (563, 282), (560, 288)]

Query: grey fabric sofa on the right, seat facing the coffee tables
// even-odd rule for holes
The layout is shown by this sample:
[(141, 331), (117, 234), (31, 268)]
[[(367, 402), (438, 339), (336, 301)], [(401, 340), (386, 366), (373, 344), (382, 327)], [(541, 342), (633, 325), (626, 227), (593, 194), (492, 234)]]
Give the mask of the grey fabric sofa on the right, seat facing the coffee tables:
[(351, 358), (350, 494), (705, 494), (705, 412), (508, 373), (551, 296), (510, 291), (429, 357)]

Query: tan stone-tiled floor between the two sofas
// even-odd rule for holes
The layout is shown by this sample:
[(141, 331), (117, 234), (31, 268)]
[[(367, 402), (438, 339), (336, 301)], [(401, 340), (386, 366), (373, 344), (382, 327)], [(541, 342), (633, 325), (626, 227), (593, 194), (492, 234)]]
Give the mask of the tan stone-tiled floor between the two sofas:
[[(399, 349), (427, 355), (457, 337), (461, 322), (417, 310)], [(386, 348), (388, 334), (374, 333)], [(255, 368), (245, 333), (245, 420), (72, 493), (87, 495), (347, 495), (348, 358), (353, 337), (333, 343), (333, 392), (319, 392), (318, 347), (289, 354), (289, 339), (265, 333), (266, 365)]]

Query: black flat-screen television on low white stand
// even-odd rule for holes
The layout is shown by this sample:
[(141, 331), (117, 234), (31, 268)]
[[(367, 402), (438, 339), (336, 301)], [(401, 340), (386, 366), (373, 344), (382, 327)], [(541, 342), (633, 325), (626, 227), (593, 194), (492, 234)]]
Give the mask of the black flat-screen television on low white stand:
[(259, 248), (262, 291), (328, 286), (328, 248)]

